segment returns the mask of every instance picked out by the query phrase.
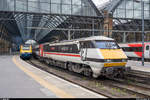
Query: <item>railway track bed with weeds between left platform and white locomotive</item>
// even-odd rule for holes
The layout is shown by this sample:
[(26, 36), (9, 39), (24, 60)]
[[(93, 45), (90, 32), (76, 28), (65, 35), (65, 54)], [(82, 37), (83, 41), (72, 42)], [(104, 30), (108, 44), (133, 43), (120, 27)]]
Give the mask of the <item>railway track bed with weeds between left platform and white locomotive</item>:
[(147, 84), (128, 82), (127, 79), (93, 79), (61, 68), (49, 66), (35, 59), (27, 61), (48, 73), (63, 78), (108, 98), (150, 98)]

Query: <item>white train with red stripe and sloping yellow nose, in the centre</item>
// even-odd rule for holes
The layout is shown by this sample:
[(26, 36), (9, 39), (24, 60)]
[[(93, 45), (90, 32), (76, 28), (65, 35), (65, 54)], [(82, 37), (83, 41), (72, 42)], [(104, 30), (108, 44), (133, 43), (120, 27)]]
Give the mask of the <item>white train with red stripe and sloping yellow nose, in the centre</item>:
[(116, 41), (104, 36), (44, 43), (35, 46), (33, 53), (47, 64), (94, 78), (124, 76), (131, 69)]

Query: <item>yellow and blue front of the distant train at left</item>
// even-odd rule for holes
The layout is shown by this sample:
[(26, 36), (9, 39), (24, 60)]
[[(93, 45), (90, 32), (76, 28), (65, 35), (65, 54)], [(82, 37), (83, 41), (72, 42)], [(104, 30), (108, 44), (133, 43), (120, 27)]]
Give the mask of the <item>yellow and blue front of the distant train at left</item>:
[(32, 57), (32, 46), (21, 45), (20, 46), (20, 58), (24, 60), (29, 60), (31, 57)]

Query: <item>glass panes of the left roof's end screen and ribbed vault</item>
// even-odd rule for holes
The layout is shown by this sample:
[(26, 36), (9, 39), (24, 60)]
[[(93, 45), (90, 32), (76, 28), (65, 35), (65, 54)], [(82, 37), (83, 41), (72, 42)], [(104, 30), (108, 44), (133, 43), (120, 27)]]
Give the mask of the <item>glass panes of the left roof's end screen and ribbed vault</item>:
[[(16, 21), (24, 41), (31, 38), (41, 40), (71, 16), (98, 16), (91, 0), (0, 0), (0, 11), (12, 12), (11, 16)], [(39, 13), (39, 15), (32, 13)], [(58, 16), (50, 16), (51, 14)], [(28, 27), (50, 29), (36, 30)]]

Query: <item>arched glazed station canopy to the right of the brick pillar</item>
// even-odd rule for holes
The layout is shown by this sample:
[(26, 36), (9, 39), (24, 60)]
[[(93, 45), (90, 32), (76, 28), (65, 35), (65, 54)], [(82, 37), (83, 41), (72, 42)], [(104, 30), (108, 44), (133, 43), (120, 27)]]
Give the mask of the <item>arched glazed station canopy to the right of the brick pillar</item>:
[(100, 11), (112, 14), (114, 30), (141, 31), (142, 5), (144, 1), (145, 30), (150, 29), (150, 0), (110, 0)]

